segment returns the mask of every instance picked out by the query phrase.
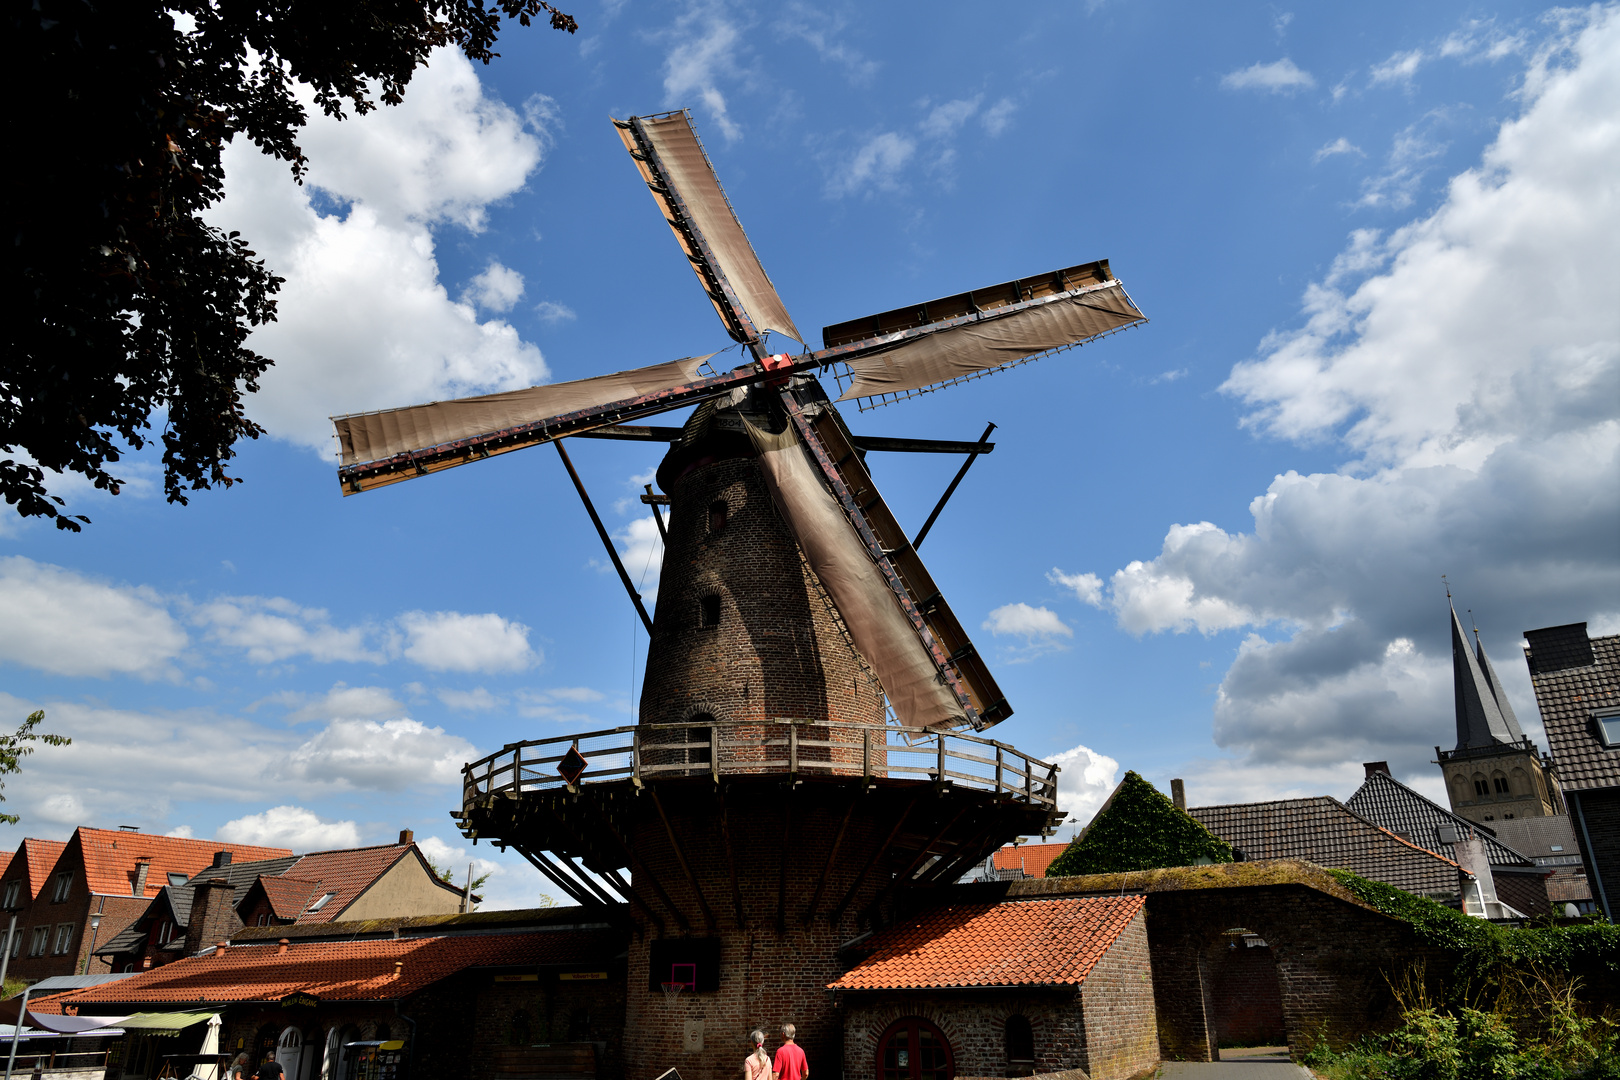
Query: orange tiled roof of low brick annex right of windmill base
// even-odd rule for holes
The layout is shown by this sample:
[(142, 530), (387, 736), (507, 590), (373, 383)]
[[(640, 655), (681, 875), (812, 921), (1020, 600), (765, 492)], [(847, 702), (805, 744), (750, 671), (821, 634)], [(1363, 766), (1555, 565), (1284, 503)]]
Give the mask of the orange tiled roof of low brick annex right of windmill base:
[(1081, 983), (1147, 897), (953, 904), (873, 934), (829, 989)]

